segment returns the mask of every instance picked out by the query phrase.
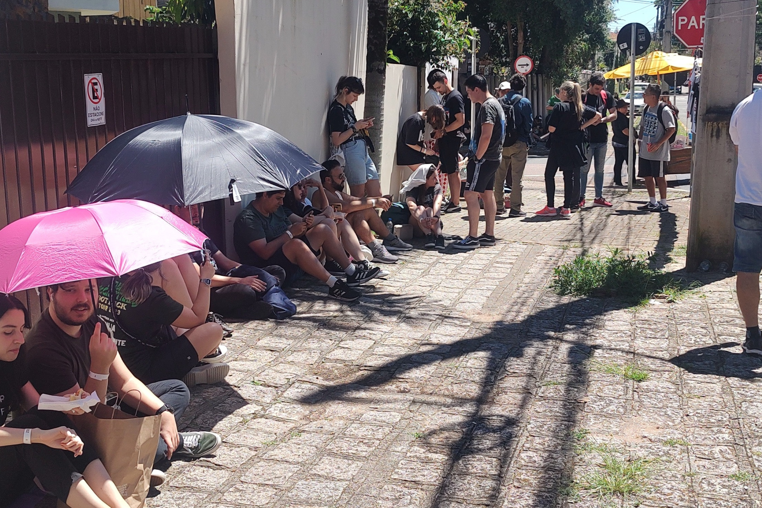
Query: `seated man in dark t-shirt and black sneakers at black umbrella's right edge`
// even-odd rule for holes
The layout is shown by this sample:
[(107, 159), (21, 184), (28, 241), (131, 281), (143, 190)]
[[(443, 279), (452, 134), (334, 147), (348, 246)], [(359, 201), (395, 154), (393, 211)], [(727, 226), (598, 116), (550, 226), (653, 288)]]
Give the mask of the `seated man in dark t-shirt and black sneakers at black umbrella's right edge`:
[[(257, 194), (254, 201), (239, 213), (233, 224), (235, 251), (246, 264), (277, 264), (286, 270), (288, 282), (296, 280), (300, 270), (325, 283), (328, 296), (342, 302), (354, 302), (361, 295), (350, 286), (373, 279), (377, 269), (366, 270), (351, 263), (335, 232), (325, 224), (308, 230), (308, 222), (291, 224), (283, 209), (285, 190)], [(347, 274), (344, 283), (331, 275), (318, 259), (320, 249), (336, 260)]]

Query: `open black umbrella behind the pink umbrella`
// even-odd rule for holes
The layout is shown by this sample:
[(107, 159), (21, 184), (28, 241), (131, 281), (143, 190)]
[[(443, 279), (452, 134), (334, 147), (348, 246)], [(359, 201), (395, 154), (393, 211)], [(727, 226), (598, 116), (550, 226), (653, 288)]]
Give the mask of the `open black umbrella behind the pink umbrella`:
[(112, 139), (66, 189), (84, 203), (121, 199), (187, 206), (288, 189), (322, 166), (257, 123), (193, 115), (146, 123)]

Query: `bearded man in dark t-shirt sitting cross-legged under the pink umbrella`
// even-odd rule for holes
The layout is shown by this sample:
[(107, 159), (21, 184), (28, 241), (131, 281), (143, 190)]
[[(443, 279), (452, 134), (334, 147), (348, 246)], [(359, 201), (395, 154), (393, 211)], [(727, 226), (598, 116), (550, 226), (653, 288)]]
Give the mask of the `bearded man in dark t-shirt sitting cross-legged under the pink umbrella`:
[[(78, 280), (46, 287), (50, 306), (26, 337), (29, 380), (40, 394), (65, 396), (80, 388), (98, 393), (104, 401), (107, 389), (123, 399), (123, 409), (143, 415), (161, 415), (162, 423), (155, 462), (174, 457), (200, 458), (213, 454), (222, 443), (211, 432), (178, 433), (191, 394), (177, 380), (142, 384), (124, 365), (114, 340), (101, 332), (94, 317), (95, 280)], [(104, 328), (105, 329), (105, 328)], [(164, 481), (155, 470), (151, 484)]]

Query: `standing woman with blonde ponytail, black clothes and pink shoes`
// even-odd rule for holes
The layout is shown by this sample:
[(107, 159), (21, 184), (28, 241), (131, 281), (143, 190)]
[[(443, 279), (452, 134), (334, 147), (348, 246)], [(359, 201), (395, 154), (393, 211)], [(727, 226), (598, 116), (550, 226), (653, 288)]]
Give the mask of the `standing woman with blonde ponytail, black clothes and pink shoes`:
[[(545, 191), (548, 204), (536, 212), (538, 216), (571, 215), (579, 208), (579, 171), (588, 161), (585, 157), (584, 129), (600, 121), (600, 113), (582, 104), (582, 91), (578, 83), (564, 81), (559, 89), (561, 102), (553, 106), (548, 118), (550, 153), (545, 166)], [(564, 175), (564, 206), (555, 208), (555, 171)]]

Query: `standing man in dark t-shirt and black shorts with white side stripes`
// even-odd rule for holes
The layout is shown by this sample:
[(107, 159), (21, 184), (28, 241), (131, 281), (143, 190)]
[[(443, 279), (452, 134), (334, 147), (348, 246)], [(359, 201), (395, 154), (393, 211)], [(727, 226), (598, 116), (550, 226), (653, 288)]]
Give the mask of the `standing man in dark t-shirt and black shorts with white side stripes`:
[[(498, 100), (489, 93), (487, 80), (481, 74), (469, 76), (464, 83), (472, 103), (482, 104), (476, 117), (474, 135), (466, 168), (466, 204), (469, 209), (469, 235), (453, 244), (458, 249), (473, 249), (495, 244), (495, 173), (500, 166), (505, 138), (505, 113)], [(479, 198), (484, 202), (484, 235), (479, 234)]]

